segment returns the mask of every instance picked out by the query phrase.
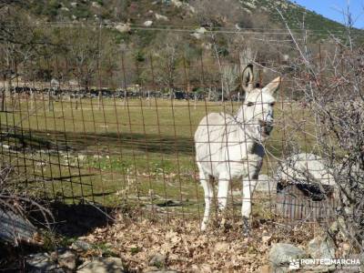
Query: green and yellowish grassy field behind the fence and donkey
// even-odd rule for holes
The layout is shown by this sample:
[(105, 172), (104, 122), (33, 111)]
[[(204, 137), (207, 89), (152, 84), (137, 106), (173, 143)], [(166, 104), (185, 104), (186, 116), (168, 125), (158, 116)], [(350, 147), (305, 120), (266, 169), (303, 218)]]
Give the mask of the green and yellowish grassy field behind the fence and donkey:
[[(105, 98), (98, 105), (97, 99), (73, 99), (55, 101), (53, 109), (40, 97), (33, 103), (9, 100), (0, 115), (3, 161), (25, 172), (26, 183), (66, 202), (153, 203), (163, 209), (174, 200), (195, 211), (203, 206), (194, 162), (197, 124), (209, 112), (236, 112), (238, 103), (133, 99), (125, 104)], [(288, 153), (287, 139), (302, 150), (313, 147), (300, 133), (314, 130), (307, 110), (278, 103), (275, 116), (267, 144), (271, 155), (261, 171), (268, 175), (275, 157)]]

